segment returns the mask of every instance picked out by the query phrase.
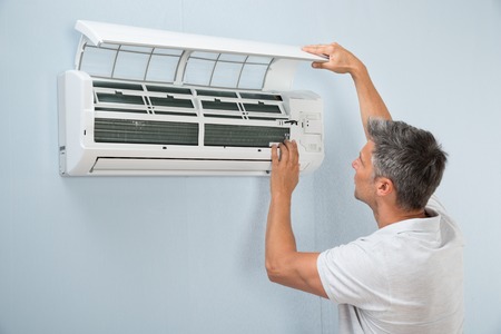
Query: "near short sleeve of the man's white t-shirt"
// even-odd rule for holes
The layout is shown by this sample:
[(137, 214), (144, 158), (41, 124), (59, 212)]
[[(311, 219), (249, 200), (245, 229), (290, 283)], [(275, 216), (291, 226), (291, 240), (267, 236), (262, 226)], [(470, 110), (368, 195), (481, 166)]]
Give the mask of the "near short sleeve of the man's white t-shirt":
[(321, 253), (318, 275), (331, 301), (367, 311), (385, 311), (390, 305), (390, 288), (384, 254), (364, 244), (357, 239)]

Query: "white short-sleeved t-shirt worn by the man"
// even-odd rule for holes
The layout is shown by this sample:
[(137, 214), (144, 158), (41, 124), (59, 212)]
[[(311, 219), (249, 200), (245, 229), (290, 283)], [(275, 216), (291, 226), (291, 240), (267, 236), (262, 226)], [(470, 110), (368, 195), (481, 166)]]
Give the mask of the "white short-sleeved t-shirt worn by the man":
[(340, 333), (462, 333), (462, 235), (435, 197), (426, 212), (318, 256)]

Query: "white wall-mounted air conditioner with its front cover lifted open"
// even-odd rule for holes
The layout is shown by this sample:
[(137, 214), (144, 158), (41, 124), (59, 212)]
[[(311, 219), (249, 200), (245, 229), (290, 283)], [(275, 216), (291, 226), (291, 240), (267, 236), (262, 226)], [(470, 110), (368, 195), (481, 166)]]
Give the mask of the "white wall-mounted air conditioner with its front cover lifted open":
[(266, 175), (296, 140), (324, 157), (323, 104), (291, 91), (299, 48), (77, 21), (76, 69), (58, 77), (60, 174)]

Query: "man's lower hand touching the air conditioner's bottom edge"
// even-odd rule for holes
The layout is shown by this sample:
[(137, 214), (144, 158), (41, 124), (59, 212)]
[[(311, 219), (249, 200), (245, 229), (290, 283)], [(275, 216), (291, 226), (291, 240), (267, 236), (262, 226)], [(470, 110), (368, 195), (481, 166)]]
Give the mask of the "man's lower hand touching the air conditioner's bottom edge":
[[(281, 154), (278, 156), (278, 148)], [(299, 154), (296, 141), (286, 140), (272, 147), (272, 197), (289, 198), (299, 181)]]

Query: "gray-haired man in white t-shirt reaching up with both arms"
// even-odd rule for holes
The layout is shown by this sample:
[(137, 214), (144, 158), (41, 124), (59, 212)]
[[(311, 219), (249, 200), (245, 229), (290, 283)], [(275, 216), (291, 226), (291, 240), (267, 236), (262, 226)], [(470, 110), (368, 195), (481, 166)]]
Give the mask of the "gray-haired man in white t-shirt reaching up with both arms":
[(462, 333), (462, 237), (433, 196), (445, 154), (430, 132), (392, 120), (353, 53), (337, 43), (304, 50), (328, 56), (314, 68), (354, 80), (367, 139), (352, 164), (355, 197), (371, 207), (379, 229), (323, 253), (297, 252), (291, 227), (297, 144), (274, 146), (269, 279), (336, 302), (341, 333)]

